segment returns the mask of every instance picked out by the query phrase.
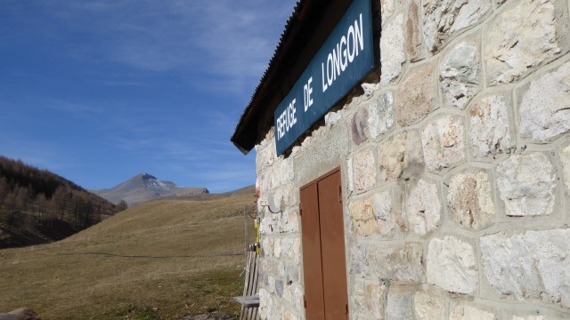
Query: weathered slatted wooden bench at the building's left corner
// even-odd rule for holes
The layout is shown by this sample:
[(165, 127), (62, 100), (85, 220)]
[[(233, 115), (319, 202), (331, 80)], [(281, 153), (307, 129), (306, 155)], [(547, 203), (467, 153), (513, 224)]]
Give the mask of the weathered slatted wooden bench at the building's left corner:
[(240, 320), (258, 320), (259, 294), (257, 293), (258, 260), (256, 252), (248, 252), (248, 265), (246, 266), (246, 278), (243, 286), (243, 295), (233, 297), (233, 300), (241, 304)]

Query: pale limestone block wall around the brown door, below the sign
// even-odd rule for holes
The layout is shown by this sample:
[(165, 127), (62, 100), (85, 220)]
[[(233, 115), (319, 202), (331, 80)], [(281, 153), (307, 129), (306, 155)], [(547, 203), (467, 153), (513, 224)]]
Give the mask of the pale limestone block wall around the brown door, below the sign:
[(299, 188), (338, 166), (351, 319), (570, 318), (570, 1), (379, 3), (379, 83), (256, 146), (262, 318), (305, 318)]

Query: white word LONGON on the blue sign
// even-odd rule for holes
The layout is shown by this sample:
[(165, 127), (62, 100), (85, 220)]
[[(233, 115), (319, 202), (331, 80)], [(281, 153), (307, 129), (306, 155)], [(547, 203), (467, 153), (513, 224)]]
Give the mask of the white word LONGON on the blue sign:
[(364, 50), (362, 13), (359, 18), (360, 21), (354, 20), (354, 25), (348, 27), (346, 36), (342, 36), (336, 48), (332, 48), (332, 52), (329, 52), (326, 67), (325, 62), (321, 63), (322, 92), (326, 92), (337, 80), (337, 76), (340, 76), (354, 58), (358, 57), (358, 52)]

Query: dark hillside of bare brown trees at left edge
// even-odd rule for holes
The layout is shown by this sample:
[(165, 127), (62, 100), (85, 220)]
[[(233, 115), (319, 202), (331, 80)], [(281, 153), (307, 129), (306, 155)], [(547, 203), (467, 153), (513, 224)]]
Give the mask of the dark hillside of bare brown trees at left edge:
[(63, 221), (78, 231), (125, 209), (124, 201), (111, 204), (53, 172), (0, 156), (0, 228), (18, 234)]

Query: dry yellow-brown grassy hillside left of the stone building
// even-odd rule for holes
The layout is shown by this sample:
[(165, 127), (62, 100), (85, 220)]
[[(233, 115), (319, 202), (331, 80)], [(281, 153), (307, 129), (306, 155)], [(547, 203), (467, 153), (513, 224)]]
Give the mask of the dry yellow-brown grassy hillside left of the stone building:
[(156, 201), (57, 243), (0, 250), (0, 312), (27, 307), (43, 319), (235, 315), (243, 208), (253, 200)]

